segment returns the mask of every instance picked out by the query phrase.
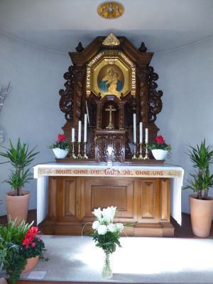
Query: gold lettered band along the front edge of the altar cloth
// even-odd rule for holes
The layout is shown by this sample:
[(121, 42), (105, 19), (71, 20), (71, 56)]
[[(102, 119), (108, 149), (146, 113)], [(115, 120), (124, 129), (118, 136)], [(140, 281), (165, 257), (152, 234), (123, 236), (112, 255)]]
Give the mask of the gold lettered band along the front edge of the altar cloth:
[(181, 178), (181, 170), (128, 170), (117, 168), (38, 168), (38, 178), (42, 176), (113, 176), (136, 178)]

